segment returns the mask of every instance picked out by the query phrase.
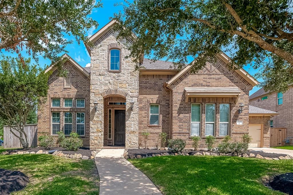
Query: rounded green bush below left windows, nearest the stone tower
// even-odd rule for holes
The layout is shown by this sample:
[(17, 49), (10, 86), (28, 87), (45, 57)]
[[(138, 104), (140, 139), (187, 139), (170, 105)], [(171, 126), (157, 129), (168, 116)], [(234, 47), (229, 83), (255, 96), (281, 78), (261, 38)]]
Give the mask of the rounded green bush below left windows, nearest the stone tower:
[(69, 137), (62, 140), (60, 146), (68, 151), (77, 151), (82, 146), (82, 139), (79, 134), (71, 132)]

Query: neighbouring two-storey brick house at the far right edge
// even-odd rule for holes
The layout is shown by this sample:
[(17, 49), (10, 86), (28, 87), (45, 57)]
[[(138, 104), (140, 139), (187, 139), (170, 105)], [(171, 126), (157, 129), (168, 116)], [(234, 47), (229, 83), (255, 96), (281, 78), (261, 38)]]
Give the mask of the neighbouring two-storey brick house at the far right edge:
[(263, 88), (249, 96), (249, 105), (268, 109), (279, 113), (270, 118), (270, 126), (286, 128), (286, 137), (293, 137), (293, 86), (289, 85), (286, 92), (265, 92)]

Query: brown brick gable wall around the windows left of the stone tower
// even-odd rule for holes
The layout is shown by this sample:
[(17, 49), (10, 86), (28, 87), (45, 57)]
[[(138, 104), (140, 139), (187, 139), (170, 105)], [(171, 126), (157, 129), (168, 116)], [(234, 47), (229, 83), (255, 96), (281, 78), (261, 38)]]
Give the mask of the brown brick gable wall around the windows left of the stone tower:
[[(48, 80), (49, 90), (47, 101), (38, 110), (38, 136), (52, 134), (52, 112), (60, 112), (60, 131), (64, 130), (64, 112), (72, 112), (72, 131), (76, 131), (76, 112), (85, 113), (85, 130), (83, 139), (84, 147), (89, 147), (89, 102), (90, 80), (71, 62), (64, 63), (64, 69), (68, 71), (67, 77), (71, 77), (70, 87), (64, 87), (64, 77), (59, 77), (57, 70), (53, 71)], [(52, 98), (60, 99), (60, 107), (52, 107)], [(64, 107), (64, 99), (72, 99), (72, 107)], [(85, 100), (85, 108), (76, 108), (76, 99)], [(57, 136), (56, 140), (57, 140)]]

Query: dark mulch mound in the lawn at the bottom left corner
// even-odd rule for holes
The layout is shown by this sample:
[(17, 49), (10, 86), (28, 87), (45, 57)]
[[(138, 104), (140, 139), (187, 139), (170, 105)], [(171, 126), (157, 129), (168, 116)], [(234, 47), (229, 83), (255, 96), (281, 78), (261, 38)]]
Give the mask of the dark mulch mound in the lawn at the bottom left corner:
[(28, 177), (20, 171), (0, 169), (0, 194), (8, 195), (23, 189), (29, 182)]

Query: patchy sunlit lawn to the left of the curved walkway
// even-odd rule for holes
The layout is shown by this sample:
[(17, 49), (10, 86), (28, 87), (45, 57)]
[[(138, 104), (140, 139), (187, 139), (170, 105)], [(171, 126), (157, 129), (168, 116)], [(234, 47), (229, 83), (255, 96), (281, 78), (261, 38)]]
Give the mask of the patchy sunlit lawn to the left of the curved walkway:
[(30, 182), (13, 195), (99, 194), (99, 177), (94, 161), (53, 155), (0, 155), (0, 168), (19, 170)]

